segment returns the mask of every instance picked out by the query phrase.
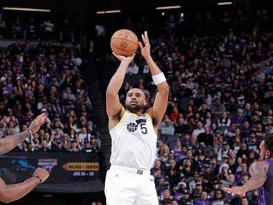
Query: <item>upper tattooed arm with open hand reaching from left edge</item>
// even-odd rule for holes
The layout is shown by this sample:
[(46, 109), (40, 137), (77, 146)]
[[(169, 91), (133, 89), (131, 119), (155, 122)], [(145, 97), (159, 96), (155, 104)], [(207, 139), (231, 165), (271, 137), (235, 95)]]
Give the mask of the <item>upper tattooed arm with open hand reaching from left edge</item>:
[[(45, 121), (45, 114), (41, 114), (38, 117), (36, 117), (30, 124), (29, 130), (32, 132), (32, 134), (37, 133), (40, 126)], [(10, 150), (12, 150), (14, 147), (16, 147), (18, 144), (20, 144), (22, 141), (30, 137), (30, 132), (28, 130), (18, 133), (15, 135), (10, 135), (8, 137), (0, 139), (0, 155), (3, 155), (5, 153), (8, 153)]]

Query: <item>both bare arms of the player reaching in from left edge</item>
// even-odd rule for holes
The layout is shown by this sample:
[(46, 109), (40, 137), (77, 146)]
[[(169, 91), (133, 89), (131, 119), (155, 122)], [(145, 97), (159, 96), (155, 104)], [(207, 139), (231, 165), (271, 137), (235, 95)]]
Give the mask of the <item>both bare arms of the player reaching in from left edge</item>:
[[(45, 121), (45, 118), (45, 114), (41, 114), (31, 122), (28, 130), (0, 139), (0, 155), (8, 153), (10, 150), (15, 148), (15, 146), (32, 136), (32, 134), (37, 133)], [(34, 170), (33, 176), (30, 177), (30, 179), (27, 179), (19, 184), (7, 185), (3, 179), (0, 178), (0, 201), (9, 203), (20, 199), (32, 191), (35, 186), (44, 182), (48, 176), (49, 174), (47, 170), (44, 168), (37, 168)]]

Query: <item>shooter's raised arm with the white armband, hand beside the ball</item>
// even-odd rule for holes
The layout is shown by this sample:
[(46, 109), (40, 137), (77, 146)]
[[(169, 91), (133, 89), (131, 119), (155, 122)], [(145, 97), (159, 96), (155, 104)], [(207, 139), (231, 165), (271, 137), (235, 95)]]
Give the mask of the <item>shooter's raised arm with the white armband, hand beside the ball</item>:
[(152, 106), (152, 108), (149, 108), (147, 112), (152, 116), (154, 126), (158, 127), (167, 109), (169, 86), (163, 72), (161, 72), (159, 67), (156, 66), (154, 60), (151, 57), (150, 42), (148, 39), (147, 31), (145, 31), (144, 35), (142, 35), (142, 39), (144, 46), (142, 45), (141, 42), (139, 42), (139, 47), (141, 48), (141, 55), (145, 58), (145, 61), (147, 62), (152, 73), (152, 79), (154, 80), (154, 84), (156, 84), (159, 90), (159, 92), (157, 92), (156, 94), (154, 106)]

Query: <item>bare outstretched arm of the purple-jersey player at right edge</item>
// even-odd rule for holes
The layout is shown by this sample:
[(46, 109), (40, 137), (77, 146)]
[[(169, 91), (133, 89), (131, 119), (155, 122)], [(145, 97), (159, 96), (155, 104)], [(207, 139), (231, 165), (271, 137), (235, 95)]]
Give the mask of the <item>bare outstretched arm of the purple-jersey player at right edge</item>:
[(265, 162), (254, 162), (250, 165), (250, 175), (252, 177), (243, 186), (234, 186), (224, 190), (232, 195), (245, 195), (247, 191), (254, 191), (256, 188), (263, 186), (266, 180), (266, 172), (268, 165)]

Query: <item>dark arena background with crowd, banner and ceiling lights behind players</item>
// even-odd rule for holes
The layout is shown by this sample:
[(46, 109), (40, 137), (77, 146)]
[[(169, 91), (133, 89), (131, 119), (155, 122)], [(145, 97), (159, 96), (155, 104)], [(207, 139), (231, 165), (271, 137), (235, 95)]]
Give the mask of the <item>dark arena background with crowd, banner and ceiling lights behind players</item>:
[[(0, 139), (47, 119), (33, 138), (0, 156), (6, 184), (37, 167), (50, 177), (10, 204), (101, 205), (111, 138), (105, 89), (119, 66), (110, 38), (139, 39), (170, 86), (151, 175), (161, 205), (258, 205), (257, 191), (232, 196), (259, 160), (273, 126), (272, 2), (0, 1)], [(119, 92), (141, 88), (149, 106), (156, 86), (140, 50)], [(15, 190), (16, 191), (16, 190)], [(273, 202), (272, 202), (273, 203)]]

